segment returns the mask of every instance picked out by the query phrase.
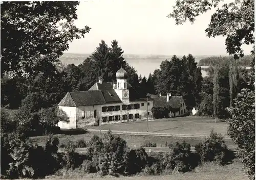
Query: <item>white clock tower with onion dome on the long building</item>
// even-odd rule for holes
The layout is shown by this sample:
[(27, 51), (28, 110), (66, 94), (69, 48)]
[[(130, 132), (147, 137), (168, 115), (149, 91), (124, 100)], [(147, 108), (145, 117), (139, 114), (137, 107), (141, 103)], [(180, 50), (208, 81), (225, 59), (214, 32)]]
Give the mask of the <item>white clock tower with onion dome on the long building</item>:
[(127, 72), (121, 67), (116, 72), (116, 88), (115, 91), (118, 97), (124, 104), (129, 104), (129, 89), (127, 89)]

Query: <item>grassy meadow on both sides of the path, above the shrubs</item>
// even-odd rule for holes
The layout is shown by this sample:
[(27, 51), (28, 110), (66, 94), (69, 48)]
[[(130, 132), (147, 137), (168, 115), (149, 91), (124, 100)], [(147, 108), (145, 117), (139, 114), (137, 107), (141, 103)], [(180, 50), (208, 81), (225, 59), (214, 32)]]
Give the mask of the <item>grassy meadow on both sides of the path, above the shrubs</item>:
[[(215, 123), (214, 119), (202, 118), (202, 117), (176, 117), (168, 119), (160, 119), (155, 121), (149, 121), (150, 132), (155, 133), (172, 133), (172, 134), (191, 134), (191, 135), (209, 135), (210, 131), (214, 129), (215, 132), (222, 135), (226, 135), (227, 123), (218, 122)], [(118, 130), (118, 131), (133, 131), (133, 132), (146, 132), (146, 121), (134, 121), (129, 123), (118, 124), (106, 124), (101, 126), (102, 130)], [(90, 126), (88, 129), (99, 129), (99, 126)], [(75, 134), (76, 133), (76, 134)], [(63, 131), (62, 134), (54, 135), (58, 137), (60, 144), (67, 141), (77, 142), (78, 140), (90, 141), (94, 136), (100, 136), (99, 132), (79, 132)], [(103, 134), (103, 133), (102, 133)], [(102, 135), (101, 134), (101, 135)], [(203, 138), (199, 137), (179, 137), (179, 136), (149, 136), (149, 135), (125, 135), (120, 134), (127, 145), (130, 147), (139, 147), (145, 141), (156, 143), (157, 147), (165, 147), (167, 143), (175, 143), (186, 141), (191, 146), (194, 146), (201, 142)], [(31, 137), (32, 142), (38, 145), (44, 146), (47, 136)], [(231, 139), (224, 139), (227, 146), (236, 146)]]

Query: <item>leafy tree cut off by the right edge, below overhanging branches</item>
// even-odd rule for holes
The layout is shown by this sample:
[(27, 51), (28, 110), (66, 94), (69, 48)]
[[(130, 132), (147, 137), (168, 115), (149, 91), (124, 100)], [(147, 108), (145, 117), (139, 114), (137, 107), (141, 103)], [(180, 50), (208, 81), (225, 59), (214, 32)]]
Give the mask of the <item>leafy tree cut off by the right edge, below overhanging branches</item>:
[(254, 91), (243, 89), (229, 109), (228, 134), (238, 145), (246, 174), (255, 179), (255, 96)]

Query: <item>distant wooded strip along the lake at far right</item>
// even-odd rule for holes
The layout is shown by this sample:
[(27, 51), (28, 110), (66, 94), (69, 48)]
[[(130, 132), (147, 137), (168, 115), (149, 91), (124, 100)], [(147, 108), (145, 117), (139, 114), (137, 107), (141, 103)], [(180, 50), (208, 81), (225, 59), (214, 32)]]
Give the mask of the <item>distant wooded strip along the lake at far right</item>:
[[(250, 66), (251, 59), (253, 58), (252, 55), (246, 55), (243, 58), (240, 58), (238, 60), (239, 66)], [(215, 66), (217, 64), (220, 64), (222, 61), (227, 61), (228, 59), (233, 59), (232, 56), (213, 56), (213, 57), (208, 57), (208, 58), (203, 58), (199, 61), (198, 65), (199, 66)]]

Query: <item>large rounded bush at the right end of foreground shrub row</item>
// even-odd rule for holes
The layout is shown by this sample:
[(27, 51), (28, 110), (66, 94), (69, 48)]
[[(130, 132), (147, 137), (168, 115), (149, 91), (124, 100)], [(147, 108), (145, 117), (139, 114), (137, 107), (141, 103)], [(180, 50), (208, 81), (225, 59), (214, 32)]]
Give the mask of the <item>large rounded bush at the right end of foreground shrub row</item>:
[(227, 146), (220, 134), (211, 130), (210, 136), (195, 146), (201, 162), (215, 161), (221, 165), (226, 162)]

